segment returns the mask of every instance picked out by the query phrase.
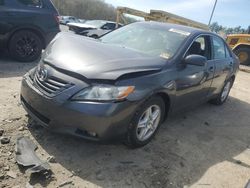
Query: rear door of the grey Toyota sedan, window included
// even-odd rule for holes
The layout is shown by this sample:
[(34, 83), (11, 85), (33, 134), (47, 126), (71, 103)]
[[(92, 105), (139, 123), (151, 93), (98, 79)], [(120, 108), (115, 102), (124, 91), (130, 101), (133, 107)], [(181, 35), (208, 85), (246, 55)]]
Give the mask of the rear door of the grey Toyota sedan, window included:
[(233, 71), (233, 59), (223, 39), (217, 36), (212, 36), (211, 39), (215, 70), (210, 95), (214, 95), (220, 93), (225, 80)]

